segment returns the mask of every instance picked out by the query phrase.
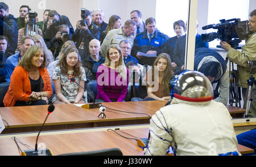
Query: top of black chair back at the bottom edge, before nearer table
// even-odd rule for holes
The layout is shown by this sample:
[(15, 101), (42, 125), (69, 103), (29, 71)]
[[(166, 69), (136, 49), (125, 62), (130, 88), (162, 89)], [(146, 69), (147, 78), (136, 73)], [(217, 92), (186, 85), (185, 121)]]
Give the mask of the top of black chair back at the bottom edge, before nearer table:
[(100, 149), (88, 152), (64, 153), (59, 156), (122, 156), (123, 153), (119, 148)]

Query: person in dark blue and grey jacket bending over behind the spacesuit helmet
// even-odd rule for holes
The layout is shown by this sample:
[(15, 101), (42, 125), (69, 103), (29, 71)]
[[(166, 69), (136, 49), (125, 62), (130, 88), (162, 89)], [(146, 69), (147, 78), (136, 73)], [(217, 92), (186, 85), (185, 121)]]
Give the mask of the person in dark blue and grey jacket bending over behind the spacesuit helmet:
[(224, 58), (212, 49), (197, 48), (194, 70), (202, 72), (212, 84), (220, 82), (220, 94), (216, 92), (214, 100), (226, 105), (229, 99), (229, 70)]

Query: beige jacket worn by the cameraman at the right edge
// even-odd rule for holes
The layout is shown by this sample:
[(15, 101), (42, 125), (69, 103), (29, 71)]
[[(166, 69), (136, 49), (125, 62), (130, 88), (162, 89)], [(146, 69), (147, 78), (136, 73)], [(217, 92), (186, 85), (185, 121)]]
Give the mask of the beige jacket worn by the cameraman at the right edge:
[[(242, 46), (242, 52), (231, 48), (227, 54), (230, 61), (237, 64), (238, 85), (247, 88), (247, 79), (250, 78), (250, 68), (246, 66), (247, 61), (256, 60), (256, 33), (249, 36), (245, 45)], [(253, 75), (256, 78), (256, 74)]]

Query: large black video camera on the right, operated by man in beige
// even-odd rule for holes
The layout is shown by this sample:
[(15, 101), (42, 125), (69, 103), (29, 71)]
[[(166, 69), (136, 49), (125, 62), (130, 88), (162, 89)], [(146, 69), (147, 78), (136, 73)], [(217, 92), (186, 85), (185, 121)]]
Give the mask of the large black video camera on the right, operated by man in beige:
[[(220, 20), (220, 24), (210, 24), (204, 26), (202, 29), (218, 29), (217, 32), (208, 34), (202, 34), (203, 41), (213, 41), (218, 38), (222, 41), (228, 42), (234, 49), (240, 49), (238, 47), (241, 40), (245, 40), (249, 35), (248, 21), (241, 22), (240, 19)], [(220, 48), (220, 46), (217, 46)]]

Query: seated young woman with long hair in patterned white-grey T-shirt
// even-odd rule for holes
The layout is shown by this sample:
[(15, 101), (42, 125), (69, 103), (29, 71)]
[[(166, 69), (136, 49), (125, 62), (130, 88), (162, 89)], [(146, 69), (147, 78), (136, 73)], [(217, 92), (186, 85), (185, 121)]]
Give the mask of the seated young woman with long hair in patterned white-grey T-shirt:
[[(86, 81), (84, 68), (79, 61), (79, 52), (75, 46), (68, 46), (61, 51), (62, 57), (53, 71), (53, 81), (56, 95), (53, 104), (84, 104), (84, 89), (76, 83), (84, 85)], [(72, 79), (75, 82), (72, 82)]]

